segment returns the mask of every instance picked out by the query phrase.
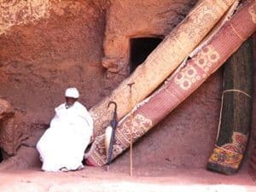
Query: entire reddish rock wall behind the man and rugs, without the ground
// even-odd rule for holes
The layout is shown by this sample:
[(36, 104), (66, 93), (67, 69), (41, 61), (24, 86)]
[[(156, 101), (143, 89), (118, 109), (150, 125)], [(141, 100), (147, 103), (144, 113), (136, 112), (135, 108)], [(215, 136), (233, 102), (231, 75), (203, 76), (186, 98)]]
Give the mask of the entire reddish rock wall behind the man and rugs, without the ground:
[[(21, 164), (34, 166), (34, 146), (64, 90), (78, 87), (80, 102), (91, 108), (129, 75), (129, 39), (164, 38), (196, 2), (0, 0), (0, 98), (17, 115), (8, 139), (0, 127), (4, 153), (22, 146)], [(134, 165), (204, 167), (218, 130), (221, 84), (219, 70), (149, 131), (134, 146)], [(114, 163), (128, 161), (125, 153)]]

